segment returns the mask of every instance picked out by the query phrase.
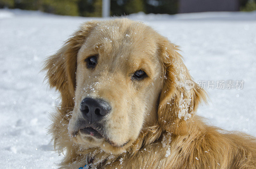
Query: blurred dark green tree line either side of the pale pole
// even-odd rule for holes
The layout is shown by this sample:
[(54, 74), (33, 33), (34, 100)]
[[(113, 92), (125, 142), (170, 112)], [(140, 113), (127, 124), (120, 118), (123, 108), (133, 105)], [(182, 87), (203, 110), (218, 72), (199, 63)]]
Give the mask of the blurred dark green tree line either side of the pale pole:
[[(0, 8), (40, 10), (59, 15), (101, 16), (102, 0), (0, 0)], [(246, 1), (246, 0), (241, 0)], [(111, 0), (111, 15), (121, 16), (143, 11), (145, 13), (174, 14), (178, 0)]]

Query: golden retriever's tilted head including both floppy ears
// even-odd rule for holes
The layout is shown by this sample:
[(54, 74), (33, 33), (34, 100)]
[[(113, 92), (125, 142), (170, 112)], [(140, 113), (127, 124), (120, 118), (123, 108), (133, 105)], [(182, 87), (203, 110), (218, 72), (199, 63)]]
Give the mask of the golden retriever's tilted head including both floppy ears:
[(83, 24), (45, 70), (61, 107), (73, 108), (72, 140), (108, 152), (130, 147), (145, 126), (187, 133), (205, 96), (196, 84), (185, 89), (193, 79), (174, 44), (125, 18)]

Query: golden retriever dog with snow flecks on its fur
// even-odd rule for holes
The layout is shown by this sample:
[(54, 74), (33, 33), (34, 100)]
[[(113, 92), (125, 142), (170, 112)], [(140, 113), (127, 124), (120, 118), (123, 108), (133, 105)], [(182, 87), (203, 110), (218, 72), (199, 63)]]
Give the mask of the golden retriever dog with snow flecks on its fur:
[(61, 168), (256, 168), (256, 138), (207, 126), (179, 47), (127, 18), (89, 21), (45, 61)]

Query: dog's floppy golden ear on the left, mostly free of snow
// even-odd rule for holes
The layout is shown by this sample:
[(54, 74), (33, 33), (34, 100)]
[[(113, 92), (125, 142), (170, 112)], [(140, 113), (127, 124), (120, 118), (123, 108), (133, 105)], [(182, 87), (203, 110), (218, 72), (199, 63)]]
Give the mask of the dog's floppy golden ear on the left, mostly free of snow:
[(76, 88), (76, 57), (88, 34), (99, 21), (89, 21), (81, 25), (60, 50), (44, 61), (45, 79), (61, 94), (61, 107), (74, 107)]

